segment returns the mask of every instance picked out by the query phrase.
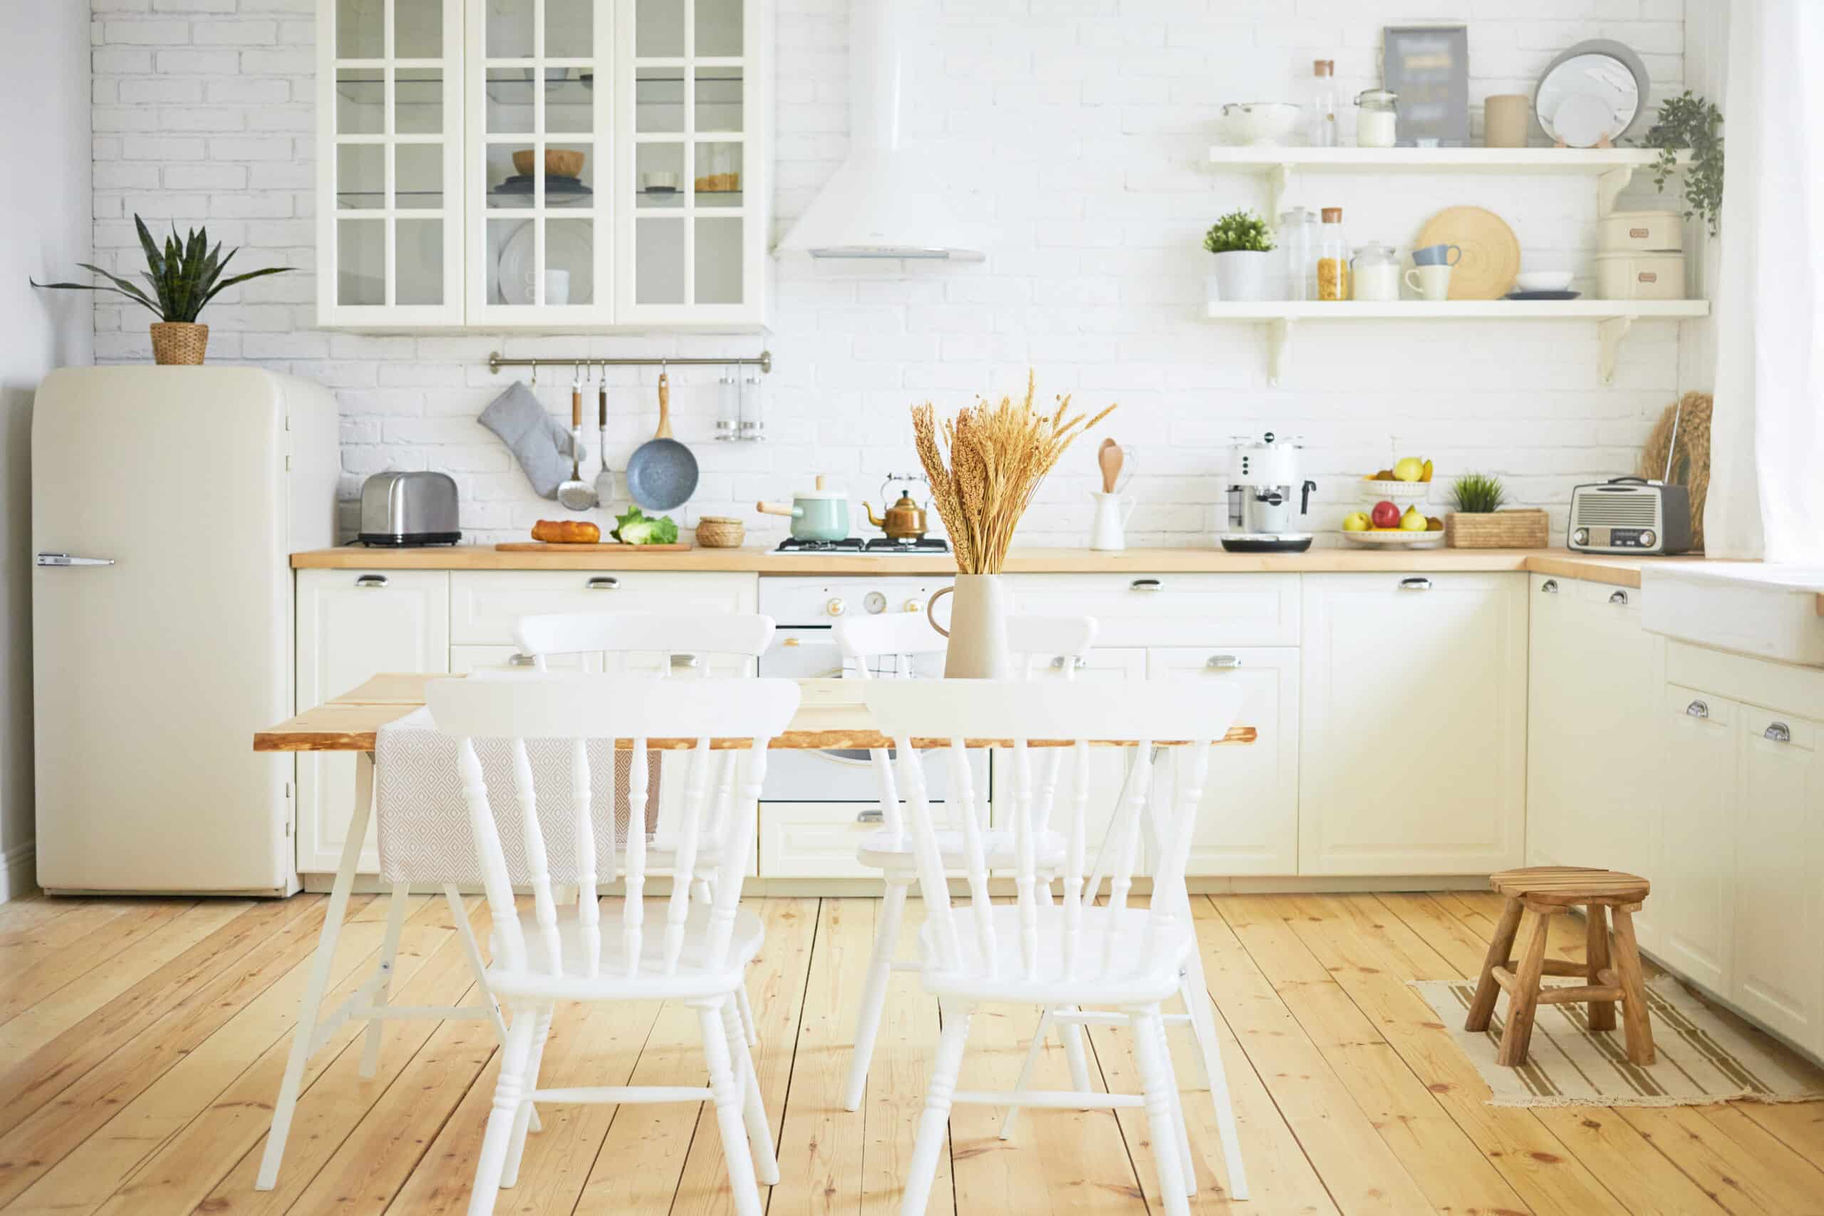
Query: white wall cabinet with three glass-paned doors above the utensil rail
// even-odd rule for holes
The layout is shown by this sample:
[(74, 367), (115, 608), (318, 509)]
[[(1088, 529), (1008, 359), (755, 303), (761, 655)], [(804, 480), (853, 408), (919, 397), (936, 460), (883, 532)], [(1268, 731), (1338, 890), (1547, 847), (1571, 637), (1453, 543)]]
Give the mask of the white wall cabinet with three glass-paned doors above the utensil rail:
[(761, 325), (762, 4), (321, 0), (321, 321)]

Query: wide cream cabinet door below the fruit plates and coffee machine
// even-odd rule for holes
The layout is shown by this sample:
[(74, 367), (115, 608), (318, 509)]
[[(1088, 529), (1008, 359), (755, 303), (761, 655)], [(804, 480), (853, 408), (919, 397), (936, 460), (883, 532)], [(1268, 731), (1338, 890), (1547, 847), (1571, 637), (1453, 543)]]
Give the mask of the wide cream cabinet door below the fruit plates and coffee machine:
[(1299, 871), (1521, 864), (1525, 576), (1302, 578)]

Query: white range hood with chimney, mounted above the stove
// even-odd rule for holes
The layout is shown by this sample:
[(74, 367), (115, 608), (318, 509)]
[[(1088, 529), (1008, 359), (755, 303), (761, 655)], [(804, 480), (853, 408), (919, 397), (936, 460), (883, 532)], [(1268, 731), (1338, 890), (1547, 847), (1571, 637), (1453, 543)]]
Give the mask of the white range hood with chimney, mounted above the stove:
[(899, 146), (908, 0), (850, 0), (848, 160), (786, 239), (812, 257), (981, 261), (978, 232), (954, 211), (936, 159)]

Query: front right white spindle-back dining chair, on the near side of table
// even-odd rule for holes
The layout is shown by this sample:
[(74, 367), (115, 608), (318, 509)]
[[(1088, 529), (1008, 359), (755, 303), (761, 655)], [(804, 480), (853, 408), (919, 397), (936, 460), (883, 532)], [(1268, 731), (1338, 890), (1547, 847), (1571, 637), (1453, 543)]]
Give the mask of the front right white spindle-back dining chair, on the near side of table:
[[(950, 1105), (989, 1103), (1052, 1108), (1144, 1107), (1158, 1161), (1160, 1196), (1169, 1216), (1186, 1216), (1186, 1196), (1197, 1192), (1191, 1145), (1184, 1130), (1176, 1079), (1160, 1005), (1182, 990), (1186, 961), (1197, 953), (1184, 868), (1191, 831), (1209, 773), (1209, 746), (1235, 720), (1240, 689), (1200, 680), (1136, 684), (972, 682), (969, 696), (934, 680), (874, 680), (865, 693), (879, 729), (897, 740), (897, 771), (905, 789), (908, 831), (917, 853), (925, 930), (919, 935), (921, 981), (943, 1006), (943, 1034), (932, 1068), (907, 1172), (901, 1216), (923, 1216)], [(912, 751), (914, 737), (950, 740), (950, 769), (967, 766), (967, 740), (1009, 740), (1012, 747), (1014, 890), (1018, 902), (989, 899), (989, 853), (972, 806), (963, 808), (969, 901), (952, 908), (938, 822), (925, 795), (925, 773)], [(1038, 831), (1051, 811), (1051, 778), (1034, 780), (1029, 740), (1073, 740), (1067, 749), (1074, 797), (1065, 817), (1063, 897), (1052, 902), (1038, 879)], [(1135, 766), (1104, 853), (1107, 904), (1093, 906), (1100, 886), (1085, 882), (1085, 811), (1089, 740), (1131, 740), (1147, 755), (1155, 740), (1189, 740), (1180, 757), (1175, 804), (1153, 813), (1160, 833), (1153, 893), (1144, 908), (1129, 908), (1127, 893), (1140, 859), (1142, 817), (1147, 813), (1151, 766)], [(1060, 753), (1063, 749), (1058, 749)], [(1051, 766), (1045, 764), (1045, 769)], [(954, 797), (969, 797), (952, 788)], [(958, 1092), (970, 1015), (981, 1005), (1036, 1005), (1056, 1019), (1062, 1010), (1113, 1006), (1111, 1012), (1074, 1014), (1078, 1021), (1133, 1028), (1135, 1057), (1144, 1094), (1087, 1090)], [(1036, 1034), (1043, 1034), (1040, 1028)], [(1031, 1065), (1031, 1054), (1029, 1054)], [(1076, 1085), (1076, 1081), (1073, 1081)], [(1220, 1087), (1220, 1063), (1213, 1087)], [(1218, 1110), (1228, 1108), (1222, 1094)], [(1229, 1196), (1248, 1196), (1233, 1112), (1220, 1123), (1228, 1158)]]

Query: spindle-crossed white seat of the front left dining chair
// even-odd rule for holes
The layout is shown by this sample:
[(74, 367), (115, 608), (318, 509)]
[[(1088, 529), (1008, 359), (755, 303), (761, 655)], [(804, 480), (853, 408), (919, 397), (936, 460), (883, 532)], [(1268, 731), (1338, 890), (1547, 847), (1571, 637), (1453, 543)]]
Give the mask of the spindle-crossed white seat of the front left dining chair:
[(704, 966), (710, 952), (710, 913), (708, 904), (691, 901), (689, 915), (684, 919), (684, 948), (679, 953), (677, 970), (671, 975), (660, 974), (666, 952), (666, 908), (664, 899), (642, 901), (646, 919), (640, 926), (640, 974), (627, 977), (626, 919), (624, 904), (602, 904), (602, 950), (600, 970), (595, 977), (586, 975), (584, 963), (587, 946), (584, 944), (582, 922), (576, 921), (575, 908), (558, 912), (558, 944), (564, 959), (564, 974), (551, 970), (545, 953), (544, 930), (538, 928), (534, 912), (520, 912), (520, 932), (525, 935), (527, 968), (513, 972), (498, 966), (500, 932), (489, 935), (489, 953), (496, 964), (489, 968), (489, 984), (507, 995), (564, 997), (586, 988), (593, 997), (699, 997), (731, 992), (742, 983), (742, 972), (759, 955), (766, 928), (761, 919), (746, 910), (735, 912), (731, 946), (724, 963), (715, 968)]

